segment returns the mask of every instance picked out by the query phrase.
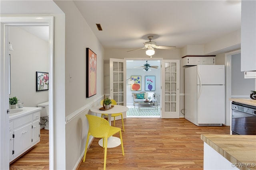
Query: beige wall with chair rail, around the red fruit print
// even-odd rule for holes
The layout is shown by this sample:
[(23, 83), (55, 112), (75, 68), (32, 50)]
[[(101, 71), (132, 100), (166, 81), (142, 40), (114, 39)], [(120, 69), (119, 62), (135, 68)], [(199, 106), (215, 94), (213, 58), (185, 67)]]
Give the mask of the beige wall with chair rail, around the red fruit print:
[[(55, 1), (65, 13), (65, 169), (75, 169), (88, 132), (85, 114), (103, 96), (104, 49), (72, 1)], [(86, 47), (97, 55), (97, 94), (86, 98)], [(69, 75), (72, 82), (69, 82)], [(64, 129), (63, 129), (64, 130)]]

